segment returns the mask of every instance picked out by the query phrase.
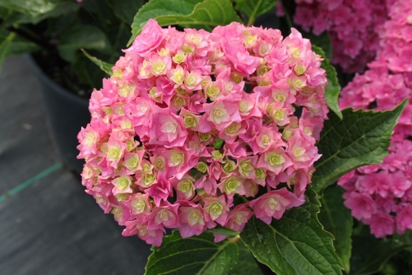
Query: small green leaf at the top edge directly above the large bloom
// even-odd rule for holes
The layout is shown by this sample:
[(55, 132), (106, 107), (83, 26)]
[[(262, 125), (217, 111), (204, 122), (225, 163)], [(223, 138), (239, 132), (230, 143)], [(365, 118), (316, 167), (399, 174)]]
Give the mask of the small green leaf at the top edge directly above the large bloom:
[(249, 18), (247, 25), (253, 25), (255, 19), (271, 10), (277, 0), (233, 0), (236, 3), (235, 9), (244, 12)]

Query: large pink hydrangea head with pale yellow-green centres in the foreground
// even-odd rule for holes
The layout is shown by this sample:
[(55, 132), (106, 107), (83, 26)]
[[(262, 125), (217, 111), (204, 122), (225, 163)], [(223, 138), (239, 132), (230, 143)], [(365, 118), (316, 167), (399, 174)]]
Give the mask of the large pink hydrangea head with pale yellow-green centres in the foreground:
[(78, 135), (82, 184), (125, 236), (241, 231), (304, 203), (327, 82), (297, 30), (179, 32), (150, 19), (125, 52)]

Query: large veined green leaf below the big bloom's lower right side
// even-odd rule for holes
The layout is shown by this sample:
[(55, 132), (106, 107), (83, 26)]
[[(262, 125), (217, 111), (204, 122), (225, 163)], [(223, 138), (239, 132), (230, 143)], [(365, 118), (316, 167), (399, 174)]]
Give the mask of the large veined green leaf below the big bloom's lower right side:
[(317, 219), (319, 200), (310, 188), (306, 203), (287, 210), (271, 225), (252, 218), (240, 237), (258, 261), (278, 275), (342, 274), (333, 236)]

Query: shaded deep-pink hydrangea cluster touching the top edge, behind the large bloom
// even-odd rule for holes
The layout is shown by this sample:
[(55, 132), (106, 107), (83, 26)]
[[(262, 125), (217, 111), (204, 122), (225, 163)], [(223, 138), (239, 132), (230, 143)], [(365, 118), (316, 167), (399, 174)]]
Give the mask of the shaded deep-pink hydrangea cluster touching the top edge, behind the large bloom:
[(332, 62), (346, 72), (363, 72), (378, 50), (378, 32), (387, 20), (388, 0), (295, 0), (293, 21), (332, 38)]

